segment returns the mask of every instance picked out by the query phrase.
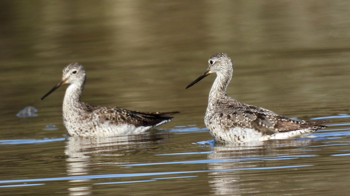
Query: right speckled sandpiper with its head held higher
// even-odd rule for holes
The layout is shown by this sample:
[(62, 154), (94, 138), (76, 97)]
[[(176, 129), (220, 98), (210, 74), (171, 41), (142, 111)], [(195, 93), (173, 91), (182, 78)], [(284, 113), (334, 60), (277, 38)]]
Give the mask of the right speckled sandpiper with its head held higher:
[(216, 73), (210, 89), (204, 123), (218, 143), (241, 143), (286, 139), (308, 135), (326, 126), (330, 120), (300, 120), (287, 118), (262, 107), (239, 102), (226, 95), (233, 68), (231, 58), (217, 53), (208, 60), (209, 68), (186, 89), (209, 74)]

